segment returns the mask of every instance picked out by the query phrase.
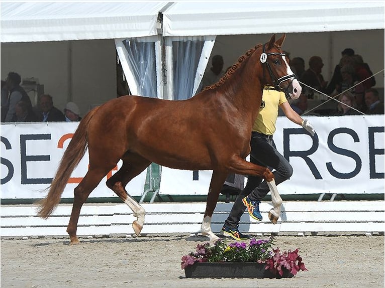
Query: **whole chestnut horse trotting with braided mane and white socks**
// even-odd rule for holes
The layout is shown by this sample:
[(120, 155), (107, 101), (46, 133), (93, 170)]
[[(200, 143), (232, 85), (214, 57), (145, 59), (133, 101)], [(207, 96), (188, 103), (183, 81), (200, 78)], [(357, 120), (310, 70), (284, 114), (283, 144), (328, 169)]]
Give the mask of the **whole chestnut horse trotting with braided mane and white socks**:
[(284, 39), (285, 34), (277, 41), (273, 35), (268, 43), (255, 46), (218, 83), (190, 99), (123, 96), (89, 111), (64, 152), (49, 192), (40, 201), (38, 215), (48, 218), (53, 212), (88, 147), (89, 169), (74, 189), (67, 227), (70, 244), (79, 242), (76, 229), (83, 203), (120, 159), (122, 168), (106, 184), (137, 217), (132, 224), (137, 235), (143, 228), (145, 211), (125, 186), (151, 162), (174, 169), (213, 170), (201, 226), (202, 234), (211, 241), (219, 238), (211, 230), (211, 217), (229, 173), (261, 176), (267, 181), (274, 206), (269, 218), (276, 223), (282, 200), (274, 176), (267, 168), (244, 159), (250, 153), (251, 128), (264, 85), (273, 85), (293, 99), (301, 94), (281, 50)]

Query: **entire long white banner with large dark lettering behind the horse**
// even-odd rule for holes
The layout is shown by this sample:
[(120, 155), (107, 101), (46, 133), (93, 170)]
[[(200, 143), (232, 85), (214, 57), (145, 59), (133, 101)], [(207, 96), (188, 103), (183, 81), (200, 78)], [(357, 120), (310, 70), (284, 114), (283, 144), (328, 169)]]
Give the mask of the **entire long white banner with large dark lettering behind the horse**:
[[(278, 185), (281, 194), (384, 193), (383, 115), (305, 118), (316, 130), (314, 137), (285, 117), (277, 120), (275, 145), (294, 168), (291, 179)], [(77, 124), (2, 124), (1, 198), (43, 198)], [(90, 197), (117, 197), (105, 182), (120, 167), (121, 162)], [(73, 197), (87, 168), (88, 153), (73, 171), (62, 198)], [(159, 193), (207, 195), (211, 174), (162, 167)], [(145, 180), (146, 171), (127, 185), (128, 193), (142, 195)]]

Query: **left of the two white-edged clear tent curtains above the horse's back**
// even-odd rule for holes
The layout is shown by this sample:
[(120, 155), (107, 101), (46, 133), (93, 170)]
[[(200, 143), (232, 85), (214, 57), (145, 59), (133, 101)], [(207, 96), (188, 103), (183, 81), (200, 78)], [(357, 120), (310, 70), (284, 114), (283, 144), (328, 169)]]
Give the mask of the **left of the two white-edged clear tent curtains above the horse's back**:
[(115, 45), (133, 95), (158, 97), (155, 43), (158, 37), (116, 39)]

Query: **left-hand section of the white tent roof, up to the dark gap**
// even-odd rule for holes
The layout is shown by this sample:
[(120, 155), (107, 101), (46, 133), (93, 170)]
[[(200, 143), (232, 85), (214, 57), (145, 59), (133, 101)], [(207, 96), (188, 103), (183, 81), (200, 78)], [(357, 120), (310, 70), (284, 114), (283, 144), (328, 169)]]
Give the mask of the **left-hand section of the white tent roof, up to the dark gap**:
[(167, 2), (1, 3), (1, 42), (114, 39), (156, 35)]

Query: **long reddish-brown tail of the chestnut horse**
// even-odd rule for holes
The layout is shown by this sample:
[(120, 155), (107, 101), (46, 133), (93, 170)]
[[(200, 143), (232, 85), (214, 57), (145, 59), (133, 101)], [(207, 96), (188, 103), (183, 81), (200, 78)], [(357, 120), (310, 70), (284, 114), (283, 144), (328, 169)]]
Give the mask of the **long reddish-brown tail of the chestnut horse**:
[(44, 219), (48, 218), (53, 212), (53, 209), (59, 204), (61, 194), (64, 191), (65, 185), (67, 185), (72, 171), (79, 164), (87, 150), (88, 123), (98, 109), (99, 107), (89, 111), (77, 126), (77, 129), (63, 154), (55, 177), (53, 178), (51, 185), (46, 189), (49, 190), (47, 196), (38, 202), (40, 205), (37, 213), (38, 216)]

